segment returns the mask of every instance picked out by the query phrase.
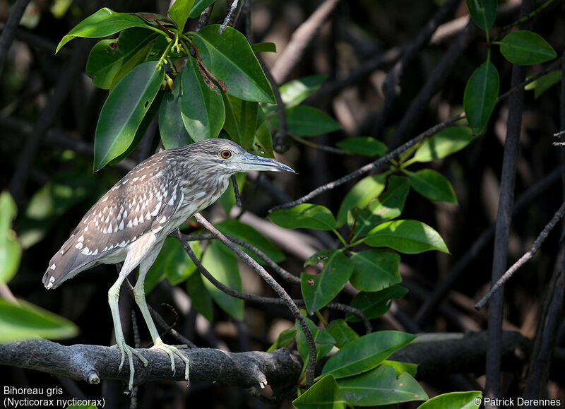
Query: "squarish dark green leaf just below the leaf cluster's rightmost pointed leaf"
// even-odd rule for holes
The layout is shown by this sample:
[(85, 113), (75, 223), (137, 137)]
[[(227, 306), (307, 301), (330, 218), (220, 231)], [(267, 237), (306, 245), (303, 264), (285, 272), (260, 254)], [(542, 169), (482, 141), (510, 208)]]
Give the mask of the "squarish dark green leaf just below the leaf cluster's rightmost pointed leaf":
[(369, 249), (351, 256), (353, 273), (350, 281), (360, 291), (379, 291), (400, 283), (400, 255), (392, 251)]

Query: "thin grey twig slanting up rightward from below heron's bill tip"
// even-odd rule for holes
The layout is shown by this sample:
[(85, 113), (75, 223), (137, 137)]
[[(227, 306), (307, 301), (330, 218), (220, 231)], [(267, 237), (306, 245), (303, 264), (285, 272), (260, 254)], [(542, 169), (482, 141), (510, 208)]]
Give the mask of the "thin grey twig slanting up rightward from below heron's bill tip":
[(457, 121), (463, 118), (465, 118), (465, 114), (461, 113), (456, 115), (455, 117), (451, 117), (450, 119), (447, 119), (446, 121), (440, 122), (439, 124), (432, 126), (432, 128), (428, 129), (427, 131), (422, 132), (422, 134), (416, 136), (415, 138), (410, 139), (410, 141), (404, 143), (395, 150), (392, 150), (390, 153), (384, 155), (382, 158), (379, 158), (374, 162), (369, 163), (368, 165), (364, 165), (363, 167), (359, 167), (359, 169), (351, 172), (350, 174), (346, 174), (344, 177), (340, 177), (340, 179), (334, 180), (333, 182), (329, 182), (327, 184), (323, 184), (322, 186), (319, 186), (313, 191), (311, 191), (309, 194), (302, 196), (301, 198), (297, 198), (295, 201), (292, 201), (290, 203), (285, 203), (279, 206), (275, 206), (270, 209), (269, 213), (273, 211), (278, 211), (280, 209), (292, 208), (300, 203), (306, 203), (311, 198), (314, 198), (319, 194), (322, 194), (324, 191), (334, 189), (335, 187), (345, 184), (350, 180), (361, 176), (362, 174), (371, 172), (371, 170), (377, 170), (381, 165), (385, 164), (386, 162), (390, 161), (393, 158), (396, 158), (396, 156), (399, 155), (400, 153), (403, 153), (405, 150), (412, 148), (412, 146), (415, 146), (417, 143), (424, 141), (425, 138), (428, 138), (429, 136), (436, 134), (442, 129), (446, 129), (450, 126), (453, 126)]

